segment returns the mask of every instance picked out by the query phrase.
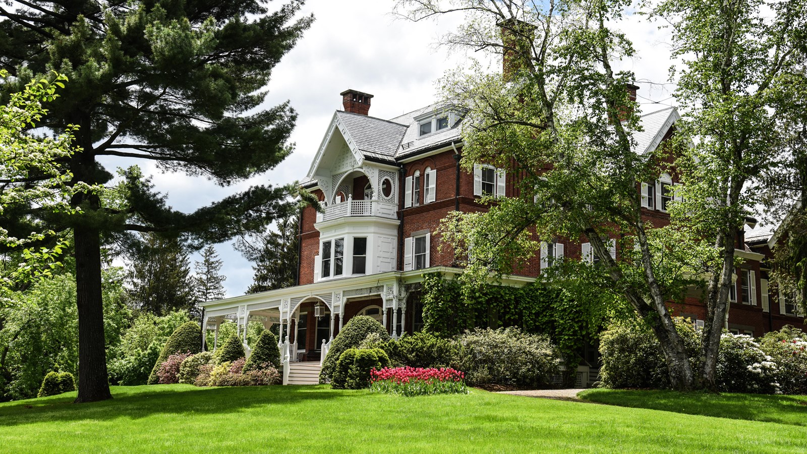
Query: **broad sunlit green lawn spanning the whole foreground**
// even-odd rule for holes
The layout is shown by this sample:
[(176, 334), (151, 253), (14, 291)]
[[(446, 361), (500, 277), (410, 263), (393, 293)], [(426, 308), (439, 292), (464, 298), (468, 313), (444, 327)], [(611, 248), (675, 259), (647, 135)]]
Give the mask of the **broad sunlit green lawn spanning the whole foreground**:
[(807, 452), (807, 428), (474, 390), (113, 389), (0, 404), (0, 452)]

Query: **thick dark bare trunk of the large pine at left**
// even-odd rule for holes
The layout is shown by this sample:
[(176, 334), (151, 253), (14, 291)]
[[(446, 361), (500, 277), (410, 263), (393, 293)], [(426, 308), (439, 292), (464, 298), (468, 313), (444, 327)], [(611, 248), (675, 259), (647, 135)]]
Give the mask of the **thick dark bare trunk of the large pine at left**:
[(76, 242), (78, 305), (78, 397), (76, 403), (112, 398), (107, 379), (101, 296), (101, 242), (98, 229), (73, 230)]

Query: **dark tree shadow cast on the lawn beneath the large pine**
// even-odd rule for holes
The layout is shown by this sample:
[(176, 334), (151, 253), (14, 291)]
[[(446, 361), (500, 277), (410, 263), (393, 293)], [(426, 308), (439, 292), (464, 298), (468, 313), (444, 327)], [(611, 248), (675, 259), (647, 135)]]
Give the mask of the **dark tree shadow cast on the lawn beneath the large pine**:
[[(227, 414), (257, 406), (294, 405), (349, 397), (328, 386), (245, 386), (195, 388), (191, 385), (114, 386), (107, 401), (73, 404), (76, 393), (0, 404), (0, 427), (35, 422), (147, 418), (153, 414)], [(148, 389), (148, 390), (144, 390)]]

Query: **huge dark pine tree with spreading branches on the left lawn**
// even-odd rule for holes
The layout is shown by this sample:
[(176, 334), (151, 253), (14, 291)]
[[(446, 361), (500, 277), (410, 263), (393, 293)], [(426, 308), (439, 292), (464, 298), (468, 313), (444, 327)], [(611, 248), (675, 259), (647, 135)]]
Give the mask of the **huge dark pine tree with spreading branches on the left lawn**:
[[(192, 213), (174, 210), (139, 170), (123, 173), (115, 200), (86, 191), (111, 173), (100, 157), (147, 159), (162, 170), (232, 185), (277, 166), (291, 152), (289, 103), (259, 108), (265, 86), (312, 17), (302, 0), (270, 12), (262, 0), (220, 2), (10, 2), (0, 9), (0, 67), (19, 91), (55, 70), (69, 85), (38, 126), (76, 125), (65, 160), (71, 204), (81, 213), (45, 219), (73, 230), (80, 370), (77, 402), (111, 398), (101, 301), (101, 238), (128, 231), (180, 234), (194, 246), (260, 231), (285, 216), (288, 187), (255, 186)], [(46, 178), (46, 177), (43, 177)], [(55, 229), (56, 230), (56, 229)]]

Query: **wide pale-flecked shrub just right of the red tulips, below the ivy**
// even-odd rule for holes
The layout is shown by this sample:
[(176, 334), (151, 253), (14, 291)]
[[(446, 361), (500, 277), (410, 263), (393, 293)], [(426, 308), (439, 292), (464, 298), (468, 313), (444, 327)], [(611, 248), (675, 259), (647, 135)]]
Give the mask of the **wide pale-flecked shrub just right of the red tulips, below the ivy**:
[(461, 370), (470, 385), (541, 387), (558, 373), (560, 355), (548, 337), (516, 327), (476, 328), (458, 337)]

